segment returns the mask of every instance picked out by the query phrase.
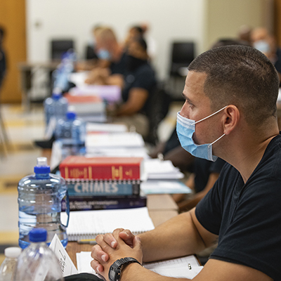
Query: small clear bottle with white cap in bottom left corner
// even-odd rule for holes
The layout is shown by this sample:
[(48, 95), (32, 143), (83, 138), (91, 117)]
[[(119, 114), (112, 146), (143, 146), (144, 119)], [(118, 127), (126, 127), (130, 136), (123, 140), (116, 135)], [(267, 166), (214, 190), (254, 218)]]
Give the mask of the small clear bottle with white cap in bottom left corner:
[(5, 256), (3, 263), (0, 266), (0, 281), (13, 280), (15, 267), (17, 266), (18, 256), (22, 249), (19, 247), (8, 247), (5, 249)]

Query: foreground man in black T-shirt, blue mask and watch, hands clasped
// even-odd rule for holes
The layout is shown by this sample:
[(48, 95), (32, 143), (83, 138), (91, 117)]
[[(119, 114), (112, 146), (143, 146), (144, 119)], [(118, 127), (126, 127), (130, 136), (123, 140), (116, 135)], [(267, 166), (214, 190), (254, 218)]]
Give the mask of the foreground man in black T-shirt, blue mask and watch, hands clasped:
[(218, 242), (193, 280), (281, 280), (278, 89), (275, 67), (255, 48), (222, 46), (195, 58), (178, 136), (193, 155), (228, 163), (194, 209), (138, 236), (123, 229), (98, 235), (91, 266), (111, 281), (186, 280), (139, 263), (196, 254)]

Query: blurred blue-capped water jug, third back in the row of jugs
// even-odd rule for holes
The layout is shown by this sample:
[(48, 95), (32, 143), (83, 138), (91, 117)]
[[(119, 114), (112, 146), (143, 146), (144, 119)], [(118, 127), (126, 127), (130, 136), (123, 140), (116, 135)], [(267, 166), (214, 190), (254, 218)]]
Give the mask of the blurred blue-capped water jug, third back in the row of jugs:
[(65, 117), (67, 107), (67, 98), (62, 96), (62, 93), (59, 89), (54, 89), (52, 96), (44, 100), (46, 126), (48, 126), (51, 118), (57, 121), (58, 119)]

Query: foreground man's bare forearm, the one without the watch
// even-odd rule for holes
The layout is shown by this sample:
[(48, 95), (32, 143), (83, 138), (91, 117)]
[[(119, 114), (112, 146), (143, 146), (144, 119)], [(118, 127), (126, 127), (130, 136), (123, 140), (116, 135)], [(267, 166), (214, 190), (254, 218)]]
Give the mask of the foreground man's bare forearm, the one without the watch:
[(155, 230), (139, 235), (144, 262), (196, 254), (204, 249), (204, 242), (195, 228), (190, 212), (171, 218)]

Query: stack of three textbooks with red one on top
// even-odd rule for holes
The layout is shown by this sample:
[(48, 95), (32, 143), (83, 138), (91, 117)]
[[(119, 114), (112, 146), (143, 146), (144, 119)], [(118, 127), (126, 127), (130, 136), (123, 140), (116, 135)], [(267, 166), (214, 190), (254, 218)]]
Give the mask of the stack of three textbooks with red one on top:
[(141, 194), (142, 157), (69, 156), (60, 163), (70, 211), (146, 206)]

